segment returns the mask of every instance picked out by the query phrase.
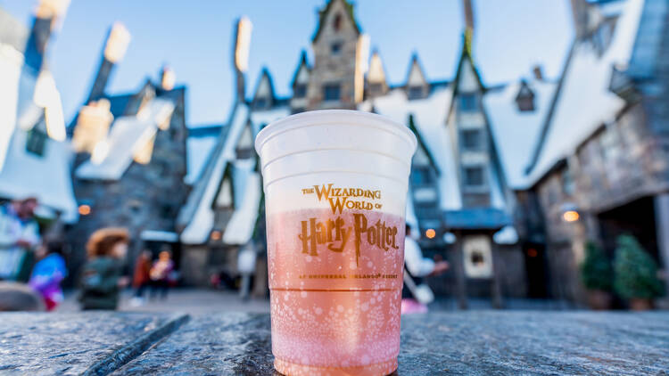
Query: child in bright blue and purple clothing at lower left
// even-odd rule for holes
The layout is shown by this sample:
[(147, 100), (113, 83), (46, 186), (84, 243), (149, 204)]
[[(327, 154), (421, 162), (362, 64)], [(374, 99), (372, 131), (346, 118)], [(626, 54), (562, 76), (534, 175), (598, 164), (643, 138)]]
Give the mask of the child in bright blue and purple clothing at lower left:
[(67, 277), (68, 269), (60, 241), (50, 241), (45, 249), (46, 255), (35, 264), (28, 284), (42, 296), (46, 310), (53, 311), (63, 300), (61, 282)]

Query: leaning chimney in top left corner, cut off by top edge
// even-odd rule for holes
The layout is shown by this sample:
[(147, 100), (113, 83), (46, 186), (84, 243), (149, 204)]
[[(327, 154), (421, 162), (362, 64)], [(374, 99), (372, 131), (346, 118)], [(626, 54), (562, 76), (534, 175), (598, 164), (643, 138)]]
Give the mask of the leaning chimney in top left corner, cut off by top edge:
[(41, 0), (35, 10), (35, 19), (25, 49), (26, 65), (37, 72), (42, 69), (46, 45), (56, 20), (67, 11), (70, 0)]

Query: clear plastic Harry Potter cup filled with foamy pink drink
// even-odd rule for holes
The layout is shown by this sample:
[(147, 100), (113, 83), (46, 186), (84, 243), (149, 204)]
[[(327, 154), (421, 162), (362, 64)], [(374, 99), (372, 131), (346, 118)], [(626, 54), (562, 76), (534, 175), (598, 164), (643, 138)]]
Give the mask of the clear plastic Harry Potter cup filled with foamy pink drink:
[(397, 369), (405, 208), (416, 137), (368, 112), (318, 110), (260, 131), (274, 366)]

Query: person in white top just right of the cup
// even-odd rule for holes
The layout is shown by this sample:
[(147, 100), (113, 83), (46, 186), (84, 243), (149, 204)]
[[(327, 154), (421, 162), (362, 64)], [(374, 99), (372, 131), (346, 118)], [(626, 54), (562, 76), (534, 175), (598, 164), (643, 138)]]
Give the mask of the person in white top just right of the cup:
[(411, 226), (406, 226), (404, 239), (404, 288), (402, 289), (401, 313), (418, 314), (427, 312), (427, 303), (434, 300), (430, 287), (423, 283), (428, 275), (439, 275), (449, 269), (446, 261), (434, 261), (423, 257), (423, 251), (414, 239)]

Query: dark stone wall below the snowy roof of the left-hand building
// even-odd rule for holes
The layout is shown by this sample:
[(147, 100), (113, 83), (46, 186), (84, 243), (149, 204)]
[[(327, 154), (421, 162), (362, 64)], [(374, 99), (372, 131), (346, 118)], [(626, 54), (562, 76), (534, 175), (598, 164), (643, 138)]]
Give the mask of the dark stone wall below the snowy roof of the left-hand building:
[(133, 266), (143, 241), (144, 230), (175, 231), (179, 208), (186, 201), (186, 119), (184, 96), (180, 95), (169, 129), (159, 130), (153, 144), (153, 156), (146, 164), (132, 162), (118, 181), (74, 179), (79, 203), (91, 207), (91, 213), (79, 217), (66, 230), (70, 243), (68, 259), (72, 278), (86, 261), (86, 241), (95, 230), (118, 226), (128, 228), (130, 247), (128, 266)]

